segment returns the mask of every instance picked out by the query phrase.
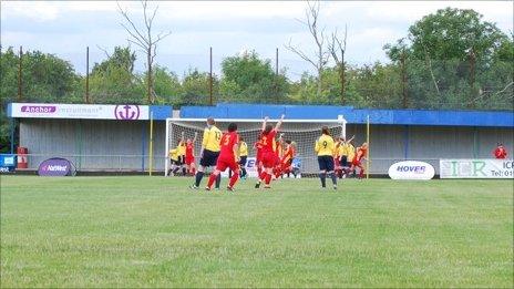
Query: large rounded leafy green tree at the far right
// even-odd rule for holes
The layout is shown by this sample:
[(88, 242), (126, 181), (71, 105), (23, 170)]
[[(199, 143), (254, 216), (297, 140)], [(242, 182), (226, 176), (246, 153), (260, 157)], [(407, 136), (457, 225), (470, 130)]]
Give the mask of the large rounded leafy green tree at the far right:
[[(492, 109), (490, 96), (503, 95), (492, 91), (512, 82), (512, 70), (504, 65), (512, 68), (512, 40), (473, 10), (438, 10), (384, 50), (398, 66), (407, 63), (402, 73), (412, 107)], [(508, 97), (494, 102), (502, 107)]]

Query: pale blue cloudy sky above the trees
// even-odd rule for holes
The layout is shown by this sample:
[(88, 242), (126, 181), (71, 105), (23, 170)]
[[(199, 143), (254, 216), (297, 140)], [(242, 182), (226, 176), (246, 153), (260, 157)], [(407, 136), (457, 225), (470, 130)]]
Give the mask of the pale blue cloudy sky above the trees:
[[(112, 51), (126, 45), (127, 34), (115, 1), (1, 1), (2, 48), (23, 45), (69, 60), (85, 73), (85, 47), (91, 63), (105, 59), (100, 48)], [(130, 14), (142, 20), (138, 1), (123, 2)], [(304, 19), (304, 1), (152, 1), (158, 6), (155, 32), (172, 34), (158, 47), (156, 61), (182, 76), (189, 68), (208, 71), (209, 47), (214, 50), (214, 71), (219, 73), (223, 58), (245, 50), (273, 59), (279, 49), (279, 66), (297, 80), (308, 63), (285, 49), (291, 40), (307, 53), (313, 42), (297, 19)], [(495, 22), (505, 33), (513, 31), (512, 1), (325, 1), (320, 22), (327, 31), (348, 25), (347, 60), (350, 64), (387, 61), (386, 43), (407, 35), (408, 28), (423, 16), (445, 7), (474, 9), (484, 20)], [(133, 47), (134, 48), (134, 47)], [(135, 49), (135, 48), (134, 48)], [(144, 69), (138, 52), (136, 70)], [(92, 66), (92, 64), (90, 65)]]

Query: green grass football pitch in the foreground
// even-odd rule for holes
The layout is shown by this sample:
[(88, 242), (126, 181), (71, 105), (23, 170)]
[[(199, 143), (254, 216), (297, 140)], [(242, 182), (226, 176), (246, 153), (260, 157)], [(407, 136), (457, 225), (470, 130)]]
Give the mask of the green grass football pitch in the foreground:
[(181, 177), (0, 180), (2, 288), (514, 281), (513, 180), (247, 180), (235, 193)]

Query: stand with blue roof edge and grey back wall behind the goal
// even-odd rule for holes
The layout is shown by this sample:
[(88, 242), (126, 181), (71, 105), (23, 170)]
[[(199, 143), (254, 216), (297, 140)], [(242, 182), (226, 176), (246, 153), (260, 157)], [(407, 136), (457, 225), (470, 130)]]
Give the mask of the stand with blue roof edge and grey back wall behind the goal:
[[(164, 169), (166, 117), (177, 116), (169, 106), (151, 106), (154, 115), (153, 167)], [(288, 118), (335, 120), (339, 114), (349, 122), (347, 135), (356, 144), (366, 138), (366, 118), (370, 113), (371, 173), (384, 174), (402, 159), (421, 159), (434, 165), (439, 158), (489, 158), (497, 142), (514, 153), (514, 121), (511, 112), (440, 112), (354, 110), (348, 106), (241, 105), (183, 107), (183, 118), (207, 116), (260, 118), (265, 115)], [(148, 121), (19, 118), (20, 146), (29, 148), (29, 168), (37, 169), (49, 157), (69, 158), (80, 171), (147, 171)], [(497, 125), (494, 125), (497, 124)], [(222, 127), (223, 128), (223, 127)]]

